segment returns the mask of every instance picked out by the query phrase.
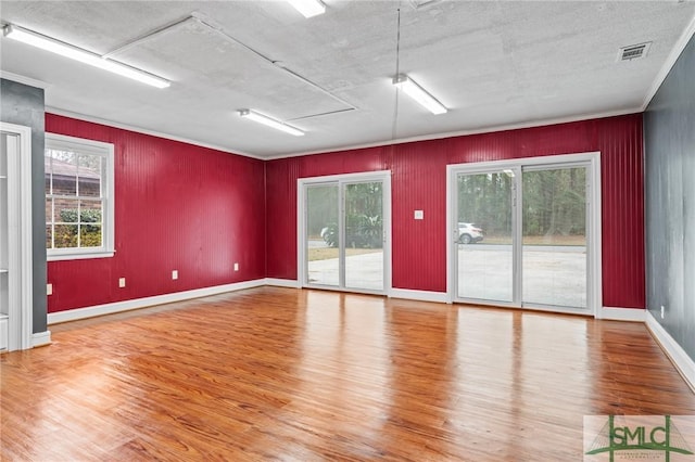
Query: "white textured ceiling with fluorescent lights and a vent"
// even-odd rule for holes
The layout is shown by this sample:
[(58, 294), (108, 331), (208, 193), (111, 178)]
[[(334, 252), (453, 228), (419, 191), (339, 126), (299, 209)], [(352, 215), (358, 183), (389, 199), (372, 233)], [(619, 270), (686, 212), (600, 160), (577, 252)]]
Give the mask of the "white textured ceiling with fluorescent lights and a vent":
[[(2, 23), (113, 53), (172, 86), (4, 37), (0, 69), (45, 82), (51, 112), (270, 158), (640, 112), (695, 17), (695, 2), (677, 0), (325, 3), (326, 14), (307, 20), (280, 0), (2, 0)], [(646, 57), (618, 61), (620, 47), (647, 41)], [(399, 95), (396, 67), (450, 112)], [(240, 108), (306, 136), (243, 119)]]

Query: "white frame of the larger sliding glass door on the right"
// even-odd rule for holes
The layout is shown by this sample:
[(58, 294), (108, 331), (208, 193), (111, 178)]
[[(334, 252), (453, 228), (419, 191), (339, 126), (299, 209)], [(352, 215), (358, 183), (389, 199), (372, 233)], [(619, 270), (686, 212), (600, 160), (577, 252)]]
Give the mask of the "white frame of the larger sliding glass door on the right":
[[(452, 304), (456, 300), (456, 260), (453, 258), (454, 239), (457, 238), (457, 219), (455, 216), (455, 194), (456, 194), (456, 176), (465, 171), (466, 174), (475, 174), (477, 171), (505, 170), (511, 169), (520, 171), (525, 167), (540, 167), (547, 165), (548, 167), (561, 167), (563, 164), (586, 164), (587, 176), (590, 177), (590, 188), (586, 192), (587, 208), (587, 242), (586, 242), (586, 308), (581, 311), (561, 310), (560, 312), (582, 312), (599, 317), (603, 308), (603, 275), (602, 275), (602, 240), (601, 240), (601, 153), (589, 152), (579, 154), (561, 154), (540, 157), (521, 157), (507, 161), (493, 161), (482, 163), (455, 164), (446, 166), (446, 303)], [(517, 194), (520, 198), (521, 194)], [(521, 207), (517, 207), (517, 217), (521, 213)], [(515, 229), (514, 233), (517, 239), (521, 234), (520, 229)], [(516, 252), (520, 252), (518, 248)], [(517, 261), (520, 259), (517, 258)], [(517, 271), (518, 268), (515, 268)], [(515, 285), (518, 285), (515, 274)], [(505, 304), (494, 304), (498, 306), (507, 306)], [(511, 306), (511, 305), (509, 305)], [(516, 305), (515, 305), (516, 306)], [(528, 308), (528, 307), (526, 307)], [(543, 309), (543, 308), (540, 308)]]

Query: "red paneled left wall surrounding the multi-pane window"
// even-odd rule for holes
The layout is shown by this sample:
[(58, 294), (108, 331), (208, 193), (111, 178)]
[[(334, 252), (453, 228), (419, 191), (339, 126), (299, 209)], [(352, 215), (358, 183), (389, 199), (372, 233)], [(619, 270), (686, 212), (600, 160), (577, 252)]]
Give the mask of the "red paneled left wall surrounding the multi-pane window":
[(46, 131), (113, 143), (116, 195), (115, 256), (49, 261), (49, 312), (265, 277), (262, 161), (52, 114)]

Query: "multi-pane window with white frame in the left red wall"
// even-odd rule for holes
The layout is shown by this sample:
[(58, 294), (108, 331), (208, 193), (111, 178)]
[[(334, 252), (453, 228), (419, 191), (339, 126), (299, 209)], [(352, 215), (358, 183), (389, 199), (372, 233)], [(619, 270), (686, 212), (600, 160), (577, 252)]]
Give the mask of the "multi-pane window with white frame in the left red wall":
[(111, 257), (110, 143), (46, 133), (46, 248), (49, 260)]

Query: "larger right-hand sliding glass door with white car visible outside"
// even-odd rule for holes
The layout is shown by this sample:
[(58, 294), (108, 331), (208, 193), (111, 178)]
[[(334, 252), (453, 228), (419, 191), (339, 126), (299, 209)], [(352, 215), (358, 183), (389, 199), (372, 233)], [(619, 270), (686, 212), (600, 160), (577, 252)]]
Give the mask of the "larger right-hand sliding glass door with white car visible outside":
[(450, 166), (452, 300), (595, 309), (597, 169), (597, 154)]

